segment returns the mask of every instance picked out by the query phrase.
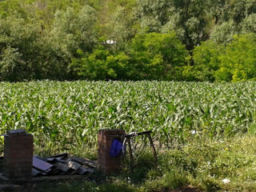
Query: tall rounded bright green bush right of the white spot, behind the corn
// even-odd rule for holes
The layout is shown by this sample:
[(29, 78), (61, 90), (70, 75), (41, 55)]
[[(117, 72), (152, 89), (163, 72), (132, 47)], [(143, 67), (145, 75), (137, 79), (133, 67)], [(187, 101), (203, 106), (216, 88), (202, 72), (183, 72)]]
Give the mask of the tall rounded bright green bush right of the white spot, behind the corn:
[(186, 57), (185, 46), (174, 32), (138, 34), (130, 44), (131, 63), (140, 71), (140, 79), (178, 79)]

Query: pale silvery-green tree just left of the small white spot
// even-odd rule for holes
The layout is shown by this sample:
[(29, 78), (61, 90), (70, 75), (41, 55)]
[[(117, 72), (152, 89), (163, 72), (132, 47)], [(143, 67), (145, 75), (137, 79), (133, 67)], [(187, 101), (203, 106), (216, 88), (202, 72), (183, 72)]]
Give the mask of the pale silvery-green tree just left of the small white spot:
[(71, 75), (72, 78), (74, 73), (70, 63), (72, 58), (78, 56), (78, 49), (84, 52), (93, 50), (98, 37), (96, 24), (95, 10), (90, 6), (83, 6), (79, 11), (69, 7), (56, 12), (53, 26), (43, 40), (49, 57), (58, 62), (60, 77)]

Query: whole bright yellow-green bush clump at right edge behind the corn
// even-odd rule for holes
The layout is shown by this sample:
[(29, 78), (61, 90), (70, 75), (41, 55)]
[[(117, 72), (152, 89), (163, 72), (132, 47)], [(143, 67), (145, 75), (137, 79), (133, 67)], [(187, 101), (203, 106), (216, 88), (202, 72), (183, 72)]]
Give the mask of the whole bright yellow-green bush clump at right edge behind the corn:
[(256, 78), (255, 34), (234, 35), (226, 46), (213, 41), (202, 42), (193, 52), (194, 66), (183, 75), (197, 81), (240, 82)]

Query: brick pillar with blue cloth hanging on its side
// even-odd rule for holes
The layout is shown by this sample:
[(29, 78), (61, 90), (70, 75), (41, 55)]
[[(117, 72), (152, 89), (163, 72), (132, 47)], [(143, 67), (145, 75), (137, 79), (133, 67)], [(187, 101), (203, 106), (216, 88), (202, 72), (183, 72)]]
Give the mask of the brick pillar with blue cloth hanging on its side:
[(124, 130), (99, 130), (98, 133), (98, 169), (104, 174), (112, 174), (121, 170), (121, 155), (110, 156), (110, 148), (114, 138), (122, 142)]

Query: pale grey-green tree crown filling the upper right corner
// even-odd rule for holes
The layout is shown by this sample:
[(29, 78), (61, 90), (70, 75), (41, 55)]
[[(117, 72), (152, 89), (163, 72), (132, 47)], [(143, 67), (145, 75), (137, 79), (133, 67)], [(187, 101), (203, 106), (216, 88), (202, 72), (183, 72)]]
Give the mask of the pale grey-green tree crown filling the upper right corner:
[(210, 18), (214, 25), (210, 39), (218, 44), (230, 42), (234, 34), (254, 33), (255, 0), (210, 0)]

